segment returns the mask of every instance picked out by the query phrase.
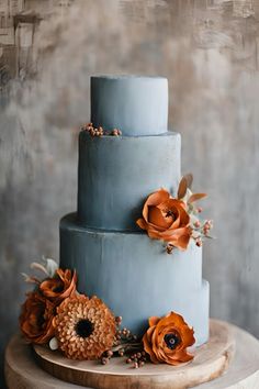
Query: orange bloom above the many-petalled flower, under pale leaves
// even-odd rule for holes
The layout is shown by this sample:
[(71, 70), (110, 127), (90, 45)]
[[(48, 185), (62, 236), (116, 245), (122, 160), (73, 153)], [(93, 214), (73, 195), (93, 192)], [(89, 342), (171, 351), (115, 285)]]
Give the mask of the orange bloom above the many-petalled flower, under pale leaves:
[(77, 275), (71, 270), (56, 270), (56, 276), (48, 278), (40, 285), (40, 291), (55, 304), (76, 292)]

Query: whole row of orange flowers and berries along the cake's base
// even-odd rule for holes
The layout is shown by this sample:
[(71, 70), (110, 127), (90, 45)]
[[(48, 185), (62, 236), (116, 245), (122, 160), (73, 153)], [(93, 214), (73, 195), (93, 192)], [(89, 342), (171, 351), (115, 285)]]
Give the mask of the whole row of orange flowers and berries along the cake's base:
[(25, 281), (34, 285), (20, 315), (20, 329), (29, 343), (59, 349), (70, 359), (103, 365), (120, 356), (135, 368), (146, 362), (177, 366), (193, 359), (188, 348), (195, 343), (194, 331), (180, 314), (149, 318), (146, 333), (138, 338), (122, 327), (122, 318), (101, 299), (77, 291), (76, 271), (58, 268), (53, 259), (44, 260), (45, 266), (31, 265), (44, 274), (43, 279), (24, 274)]

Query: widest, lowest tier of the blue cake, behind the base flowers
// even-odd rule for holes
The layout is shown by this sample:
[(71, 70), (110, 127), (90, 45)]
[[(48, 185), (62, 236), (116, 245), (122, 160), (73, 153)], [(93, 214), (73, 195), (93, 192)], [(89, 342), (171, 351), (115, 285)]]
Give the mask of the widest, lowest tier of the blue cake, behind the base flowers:
[(210, 288), (194, 244), (169, 255), (144, 233), (87, 229), (69, 214), (60, 221), (60, 267), (76, 269), (78, 290), (101, 298), (137, 335), (149, 316), (174, 311), (193, 326), (196, 345), (209, 338)]

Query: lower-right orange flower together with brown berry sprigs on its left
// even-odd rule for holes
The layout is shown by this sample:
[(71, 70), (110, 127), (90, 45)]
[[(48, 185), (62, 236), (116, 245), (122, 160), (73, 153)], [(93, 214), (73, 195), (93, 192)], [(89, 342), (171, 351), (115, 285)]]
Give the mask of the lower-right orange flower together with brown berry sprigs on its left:
[(193, 334), (193, 329), (176, 312), (164, 318), (153, 316), (140, 341), (127, 329), (117, 330), (116, 345), (103, 353), (101, 362), (106, 365), (114, 356), (126, 356), (126, 364), (134, 368), (143, 367), (146, 362), (177, 366), (193, 359), (188, 352), (195, 343)]

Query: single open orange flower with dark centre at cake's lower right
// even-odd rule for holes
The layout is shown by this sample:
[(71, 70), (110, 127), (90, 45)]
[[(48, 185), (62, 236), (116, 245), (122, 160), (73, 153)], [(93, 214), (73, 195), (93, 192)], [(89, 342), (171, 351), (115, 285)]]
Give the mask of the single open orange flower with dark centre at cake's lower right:
[(170, 312), (165, 318), (149, 318), (149, 329), (143, 337), (144, 349), (154, 364), (179, 365), (193, 359), (187, 347), (195, 343), (193, 330), (180, 314)]

